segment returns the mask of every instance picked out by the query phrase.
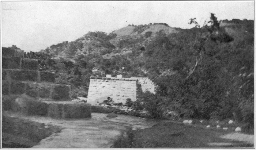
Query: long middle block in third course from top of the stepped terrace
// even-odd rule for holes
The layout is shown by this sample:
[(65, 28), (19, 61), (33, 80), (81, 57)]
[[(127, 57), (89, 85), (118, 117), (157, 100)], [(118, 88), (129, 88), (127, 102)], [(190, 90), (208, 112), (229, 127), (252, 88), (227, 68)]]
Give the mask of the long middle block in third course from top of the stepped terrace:
[(13, 80), (38, 81), (38, 73), (34, 70), (11, 70), (9, 75)]

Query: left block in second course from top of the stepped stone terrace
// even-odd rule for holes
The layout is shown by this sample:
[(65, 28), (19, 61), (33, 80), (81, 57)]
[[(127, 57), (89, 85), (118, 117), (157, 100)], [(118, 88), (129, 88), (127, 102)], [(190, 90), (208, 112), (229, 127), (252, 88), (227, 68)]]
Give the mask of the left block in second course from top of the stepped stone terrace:
[(3, 69), (20, 69), (19, 57), (2, 57), (2, 68)]

